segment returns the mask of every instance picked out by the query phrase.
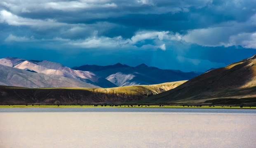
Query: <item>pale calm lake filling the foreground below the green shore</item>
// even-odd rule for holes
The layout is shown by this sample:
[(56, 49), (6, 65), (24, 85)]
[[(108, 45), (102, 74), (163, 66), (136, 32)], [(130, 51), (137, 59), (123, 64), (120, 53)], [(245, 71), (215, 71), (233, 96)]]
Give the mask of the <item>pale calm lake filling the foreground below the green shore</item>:
[(1, 148), (255, 148), (254, 109), (0, 109)]

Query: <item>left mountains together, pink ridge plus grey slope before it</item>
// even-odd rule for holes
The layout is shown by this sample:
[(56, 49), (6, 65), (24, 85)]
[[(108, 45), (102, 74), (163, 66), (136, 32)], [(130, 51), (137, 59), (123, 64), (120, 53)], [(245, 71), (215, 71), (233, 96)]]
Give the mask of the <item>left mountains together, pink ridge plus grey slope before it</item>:
[[(0, 59), (0, 65), (5, 65), (8, 67), (8, 73), (6, 73), (6, 67), (1, 66), (0, 71), (4, 73), (1, 75), (1, 79), (7, 79), (10, 86), (22, 86), (22, 87), (28, 87), (28, 88), (34, 88), (34, 87), (45, 87), (45, 85), (41, 85), (43, 83), (47, 83), (49, 85), (46, 85), (46, 87), (80, 87), (76, 86), (75, 84), (79, 82), (81, 83), (83, 87), (89, 87), (89, 88), (99, 88), (99, 87), (116, 87), (113, 83), (110, 81), (100, 77), (96, 76), (92, 72), (85, 72), (80, 70), (74, 70), (68, 67), (65, 67), (59, 63), (56, 62), (50, 62), (47, 60), (37, 61), (37, 60), (25, 60), (25, 59), (19, 59), (19, 58), (2, 58)], [(16, 72), (19, 73), (25, 73), (23, 71), (17, 71), (16, 69), (23, 69), (27, 72), (31, 72), (34, 74), (23, 74), (22, 76), (20, 74), (16, 74)], [(31, 81), (31, 77), (41, 77), (42, 79), (37, 79), (38, 81)], [(55, 76), (52, 76), (55, 75)], [(51, 79), (47, 79), (47, 77), (51, 77)], [(55, 81), (60, 82), (62, 79), (69, 78), (68, 81), (70, 83), (55, 83)], [(61, 79), (60, 79), (61, 78)], [(13, 80), (15, 81), (14, 83)], [(21, 81), (19, 81), (21, 80)], [(73, 82), (71, 82), (73, 81)], [(1, 81), (2, 82), (2, 81)], [(70, 85), (71, 84), (71, 85)], [(1, 85), (8, 85), (8, 83), (1, 83)]]

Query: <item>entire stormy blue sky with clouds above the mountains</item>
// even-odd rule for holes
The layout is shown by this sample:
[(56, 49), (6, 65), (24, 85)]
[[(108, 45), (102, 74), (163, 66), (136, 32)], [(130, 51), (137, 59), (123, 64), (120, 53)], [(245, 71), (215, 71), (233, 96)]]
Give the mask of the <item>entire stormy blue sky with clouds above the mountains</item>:
[(256, 54), (256, 0), (1, 0), (0, 58), (204, 72)]

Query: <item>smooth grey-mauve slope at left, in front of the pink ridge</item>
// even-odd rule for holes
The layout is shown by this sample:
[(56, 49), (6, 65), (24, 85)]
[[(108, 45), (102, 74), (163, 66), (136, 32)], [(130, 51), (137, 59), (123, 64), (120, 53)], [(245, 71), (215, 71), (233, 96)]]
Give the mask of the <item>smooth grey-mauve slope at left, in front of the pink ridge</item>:
[(27, 70), (0, 65), (0, 85), (29, 88), (52, 87), (87, 87), (95, 88), (89, 83), (53, 74), (28, 72)]

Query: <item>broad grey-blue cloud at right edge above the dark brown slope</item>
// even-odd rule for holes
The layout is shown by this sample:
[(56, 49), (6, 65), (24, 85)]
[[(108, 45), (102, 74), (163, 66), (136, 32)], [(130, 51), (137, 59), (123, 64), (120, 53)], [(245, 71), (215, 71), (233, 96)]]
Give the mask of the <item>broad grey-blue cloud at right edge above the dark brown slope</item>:
[[(238, 4), (237, 4), (238, 5)], [(246, 22), (229, 21), (217, 27), (188, 30), (181, 39), (202, 46), (242, 46), (256, 49), (256, 14)]]

